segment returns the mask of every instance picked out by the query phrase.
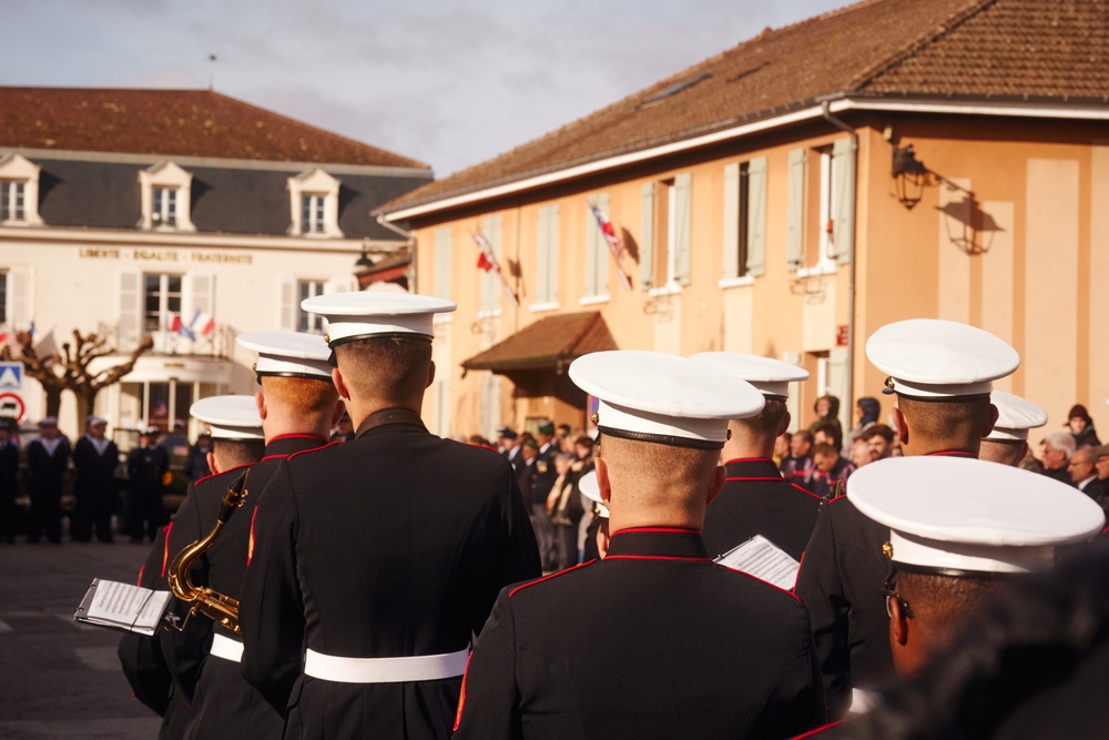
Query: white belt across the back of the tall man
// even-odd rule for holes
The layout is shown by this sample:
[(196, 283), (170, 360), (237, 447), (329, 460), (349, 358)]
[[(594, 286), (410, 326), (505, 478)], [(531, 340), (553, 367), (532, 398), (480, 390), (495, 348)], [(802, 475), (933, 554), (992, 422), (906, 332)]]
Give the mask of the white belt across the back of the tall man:
[(338, 683), (399, 683), (454, 678), (466, 672), (470, 649), (437, 656), (403, 658), (343, 658), (308, 649), (304, 672), (313, 678)]

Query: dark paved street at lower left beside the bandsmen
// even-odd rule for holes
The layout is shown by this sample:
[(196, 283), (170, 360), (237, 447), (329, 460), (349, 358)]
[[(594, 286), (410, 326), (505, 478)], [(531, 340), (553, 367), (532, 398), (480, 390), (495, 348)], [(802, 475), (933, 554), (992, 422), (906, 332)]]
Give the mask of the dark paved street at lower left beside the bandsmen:
[(120, 669), (120, 633), (72, 619), (93, 577), (134, 581), (149, 548), (0, 545), (0, 739), (157, 736)]

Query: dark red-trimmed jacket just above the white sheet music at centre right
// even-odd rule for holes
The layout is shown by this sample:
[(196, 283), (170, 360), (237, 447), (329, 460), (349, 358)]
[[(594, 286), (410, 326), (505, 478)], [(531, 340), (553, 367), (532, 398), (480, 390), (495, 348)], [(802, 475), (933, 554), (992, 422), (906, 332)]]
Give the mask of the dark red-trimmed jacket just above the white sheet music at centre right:
[(704, 513), (704, 545), (713, 557), (762, 535), (801, 560), (821, 498), (782, 477), (774, 460), (729, 460), (720, 495)]

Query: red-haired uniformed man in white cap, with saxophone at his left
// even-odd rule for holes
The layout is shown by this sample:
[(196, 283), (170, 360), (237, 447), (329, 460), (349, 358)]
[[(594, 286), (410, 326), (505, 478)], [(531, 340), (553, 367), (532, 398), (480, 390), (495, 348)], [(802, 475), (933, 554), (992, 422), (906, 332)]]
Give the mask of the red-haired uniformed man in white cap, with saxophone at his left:
[[(243, 507), (193, 567), (193, 582), (236, 600), (251, 558), (251, 521), (278, 462), (327, 444), (327, 435), (344, 410), (327, 364), (330, 349), (319, 335), (250, 332), (240, 334), (237, 342), (257, 357), (254, 372), (262, 389), (253, 402), (265, 435), (265, 452), (261, 462), (250, 468)], [(214, 434), (218, 435), (221, 419), (214, 414), (202, 409), (193, 416), (212, 423)], [(225, 444), (218, 437), (215, 440), (217, 449)], [(171, 550), (176, 553), (212, 530), (223, 493), (234, 475), (225, 470), (211, 483), (195, 486), (174, 519)], [(238, 635), (223, 625), (213, 626), (211, 620), (200, 619), (214, 633), (211, 656), (196, 656), (203, 665), (192, 692), (185, 738), (278, 737), (284, 717), (243, 678), (240, 666), (243, 643)]]

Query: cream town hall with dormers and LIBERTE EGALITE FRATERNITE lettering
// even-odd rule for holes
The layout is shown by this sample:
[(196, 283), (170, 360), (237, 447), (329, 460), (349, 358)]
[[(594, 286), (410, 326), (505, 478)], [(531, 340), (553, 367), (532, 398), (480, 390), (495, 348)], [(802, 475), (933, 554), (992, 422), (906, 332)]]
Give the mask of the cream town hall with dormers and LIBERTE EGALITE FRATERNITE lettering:
[[(408, 254), (370, 211), (430, 180), (211, 91), (0, 88), (0, 325), (33, 332), (40, 355), (74, 330), (106, 336), (93, 371), (150, 337), (92, 410), (118, 437), (170, 428), (199, 398), (254, 392), (240, 332), (322, 332), (302, 298)], [(24, 424), (45, 413), (33, 379), (16, 393)], [(63, 394), (71, 435), (74, 403)]]

